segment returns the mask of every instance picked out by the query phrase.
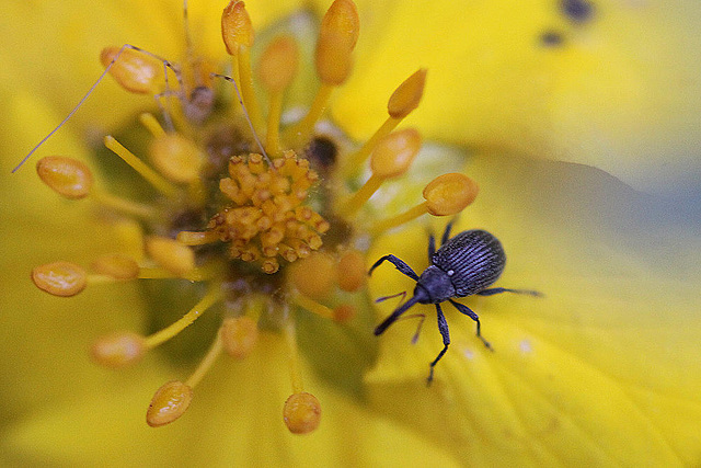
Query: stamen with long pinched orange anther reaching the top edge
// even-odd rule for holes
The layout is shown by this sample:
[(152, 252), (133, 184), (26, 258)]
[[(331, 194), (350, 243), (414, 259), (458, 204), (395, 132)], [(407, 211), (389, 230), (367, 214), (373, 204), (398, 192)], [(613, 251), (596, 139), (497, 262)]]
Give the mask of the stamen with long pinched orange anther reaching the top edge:
[(296, 145), (309, 139), (314, 124), (326, 109), (331, 91), (343, 84), (353, 68), (350, 53), (360, 33), (360, 20), (355, 3), (350, 0), (335, 0), (321, 20), (317, 42), (317, 75), (321, 81), (309, 113), (290, 129)]

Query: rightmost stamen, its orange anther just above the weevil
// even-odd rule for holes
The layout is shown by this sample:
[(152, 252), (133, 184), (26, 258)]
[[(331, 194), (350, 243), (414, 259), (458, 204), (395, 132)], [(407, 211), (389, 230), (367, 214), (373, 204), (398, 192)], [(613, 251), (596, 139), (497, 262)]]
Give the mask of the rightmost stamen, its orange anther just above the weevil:
[(426, 202), (389, 219), (384, 219), (371, 229), (377, 236), (387, 229), (401, 226), (426, 213), (433, 216), (451, 216), (460, 213), (478, 196), (476, 182), (460, 173), (439, 175), (424, 189)]

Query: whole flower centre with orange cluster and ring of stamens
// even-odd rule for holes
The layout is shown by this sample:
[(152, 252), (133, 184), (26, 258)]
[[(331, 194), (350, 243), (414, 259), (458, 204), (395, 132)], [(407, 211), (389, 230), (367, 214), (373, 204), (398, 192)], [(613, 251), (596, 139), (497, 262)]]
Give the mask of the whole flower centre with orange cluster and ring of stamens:
[[(112, 77), (129, 92), (152, 94), (161, 110), (161, 122), (151, 114), (140, 118), (151, 135), (149, 163), (112, 136), (104, 141), (154, 195), (141, 203), (108, 193), (93, 182), (87, 164), (70, 158), (44, 158), (37, 171), (61, 196), (90, 198), (138, 220), (146, 258), (105, 255), (95, 259), (90, 273), (55, 262), (36, 267), (32, 277), (56, 296), (139, 278), (204, 283), (204, 296), (182, 318), (147, 336), (118, 332), (99, 339), (94, 359), (110, 367), (131, 365), (220, 305), (221, 324), (209, 351), (189, 378), (156, 392), (148, 423), (179, 419), (220, 354), (245, 358), (255, 352), (258, 332), (274, 330), (285, 336), (291, 362), (294, 393), (284, 421), (292, 433), (307, 433), (319, 424), (320, 403), (302, 385), (295, 311), (347, 323), (358, 305), (371, 310), (365, 287), (368, 240), (424, 214), (452, 216), (472, 203), (478, 189), (466, 175), (444, 174), (428, 183), (424, 203), (404, 213), (375, 219), (365, 210), (380, 186), (404, 174), (420, 152), (416, 129), (393, 130), (418, 105), (426, 71), (399, 85), (387, 121), (364, 145), (323, 134), (317, 123), (352, 70), (359, 24), (350, 0), (334, 1), (324, 15), (315, 54), (321, 87), (309, 112), (283, 132), (283, 100), (296, 76), (297, 45), (283, 36), (263, 52), (257, 79), (268, 94), (264, 113), (253, 88), (253, 28), (242, 1), (227, 5), (221, 25), (233, 77), (210, 72), (192, 50), (183, 66), (135, 46), (103, 50)], [(231, 85), (238, 99), (227, 100)], [(369, 176), (360, 171), (368, 159)]]

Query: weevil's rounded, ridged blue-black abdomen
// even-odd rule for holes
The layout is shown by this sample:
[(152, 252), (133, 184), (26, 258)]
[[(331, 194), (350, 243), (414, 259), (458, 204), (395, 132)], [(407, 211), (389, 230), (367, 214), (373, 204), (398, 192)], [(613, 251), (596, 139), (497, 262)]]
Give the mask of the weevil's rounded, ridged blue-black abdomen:
[(434, 254), (432, 263), (450, 277), (456, 297), (464, 297), (490, 287), (498, 279), (506, 254), (502, 242), (493, 235), (470, 230), (449, 239)]

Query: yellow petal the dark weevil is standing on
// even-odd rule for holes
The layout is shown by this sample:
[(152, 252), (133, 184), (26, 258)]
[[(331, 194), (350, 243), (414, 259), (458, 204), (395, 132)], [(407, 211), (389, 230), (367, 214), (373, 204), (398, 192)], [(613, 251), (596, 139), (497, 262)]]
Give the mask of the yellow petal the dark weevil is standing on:
[[(467, 173), (482, 191), (455, 232), (484, 228), (507, 254), (495, 286), (542, 292), (450, 305), (443, 349), (433, 307), (381, 338), (368, 375), (372, 407), (412, 424), (469, 466), (692, 466), (701, 460), (701, 277), (698, 221), (680, 224), (655, 198), (582, 165), (492, 155)], [(438, 226), (436, 226), (438, 228)], [(407, 229), (374, 246), (417, 272), (426, 232)], [(414, 282), (391, 266), (374, 273), (372, 296)], [(392, 303), (388, 300), (387, 303)], [(397, 306), (383, 304), (380, 319)]]

